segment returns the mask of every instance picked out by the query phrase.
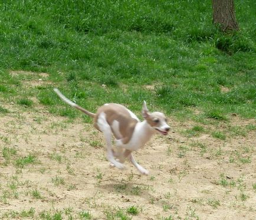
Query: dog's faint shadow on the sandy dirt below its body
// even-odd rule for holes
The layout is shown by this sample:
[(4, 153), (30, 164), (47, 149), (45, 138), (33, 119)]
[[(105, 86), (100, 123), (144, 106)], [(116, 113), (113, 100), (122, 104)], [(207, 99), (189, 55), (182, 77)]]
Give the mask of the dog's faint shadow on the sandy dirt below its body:
[(151, 193), (155, 192), (155, 189), (151, 185), (136, 184), (133, 181), (118, 181), (116, 179), (109, 179), (109, 181), (111, 181), (111, 184), (104, 184), (104, 181), (102, 181), (98, 187), (108, 193), (122, 195), (122, 198), (125, 198), (125, 196), (139, 196), (149, 201), (154, 199)]

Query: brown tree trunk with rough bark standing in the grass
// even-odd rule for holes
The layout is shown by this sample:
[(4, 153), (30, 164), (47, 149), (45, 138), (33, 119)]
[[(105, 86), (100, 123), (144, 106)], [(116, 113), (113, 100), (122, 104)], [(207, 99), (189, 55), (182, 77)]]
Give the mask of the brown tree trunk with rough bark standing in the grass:
[(222, 31), (238, 31), (234, 0), (212, 0), (212, 18)]

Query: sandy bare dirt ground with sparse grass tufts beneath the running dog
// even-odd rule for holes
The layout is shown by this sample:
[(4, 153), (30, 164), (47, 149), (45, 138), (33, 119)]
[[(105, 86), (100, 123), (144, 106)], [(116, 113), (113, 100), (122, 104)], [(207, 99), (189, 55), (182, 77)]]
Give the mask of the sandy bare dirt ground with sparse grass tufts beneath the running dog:
[[(134, 154), (150, 171), (143, 176), (128, 162), (124, 171), (109, 167), (103, 136), (92, 124), (68, 122), (39, 104), (23, 113), (18, 105), (2, 106), (10, 111), (0, 117), (2, 219), (56, 211), (63, 219), (79, 219), (81, 211), (92, 219), (121, 219), (118, 210), (132, 219), (255, 219), (255, 131), (225, 140), (209, 132), (188, 137), (179, 131), (195, 123), (170, 119), (167, 137), (156, 135)], [(234, 116), (219, 129), (252, 124)], [(4, 148), (16, 152), (8, 157)], [(28, 155), (35, 160), (17, 165)], [(127, 214), (130, 206), (139, 213)], [(34, 215), (22, 217), (31, 208)]]

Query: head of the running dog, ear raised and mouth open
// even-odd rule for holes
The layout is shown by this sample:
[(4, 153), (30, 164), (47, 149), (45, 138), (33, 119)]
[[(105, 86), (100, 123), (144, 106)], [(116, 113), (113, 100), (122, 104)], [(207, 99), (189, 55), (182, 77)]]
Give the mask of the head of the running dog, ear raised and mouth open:
[(147, 123), (162, 135), (167, 135), (170, 130), (170, 126), (167, 124), (166, 116), (162, 112), (150, 113), (147, 109), (146, 102), (143, 102), (142, 116)]

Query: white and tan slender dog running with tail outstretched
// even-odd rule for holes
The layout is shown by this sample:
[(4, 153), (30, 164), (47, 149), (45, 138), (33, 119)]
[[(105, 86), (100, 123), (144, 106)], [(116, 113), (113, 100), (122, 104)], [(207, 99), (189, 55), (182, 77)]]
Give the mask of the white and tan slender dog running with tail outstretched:
[[(107, 159), (111, 162), (111, 166), (124, 169), (123, 162), (128, 158), (142, 174), (149, 174), (149, 171), (137, 164), (132, 152), (142, 148), (156, 132), (162, 135), (168, 134), (170, 126), (166, 124), (166, 117), (163, 113), (149, 113), (144, 101), (142, 116), (145, 120), (142, 122), (132, 111), (119, 104), (104, 104), (94, 114), (67, 99), (58, 89), (55, 88), (54, 91), (68, 105), (94, 118), (94, 127), (103, 132), (106, 140)], [(117, 152), (114, 152), (111, 146), (112, 133), (116, 138)]]

